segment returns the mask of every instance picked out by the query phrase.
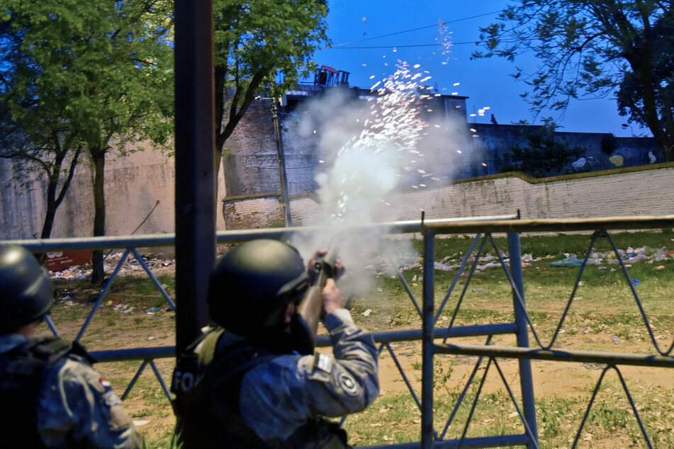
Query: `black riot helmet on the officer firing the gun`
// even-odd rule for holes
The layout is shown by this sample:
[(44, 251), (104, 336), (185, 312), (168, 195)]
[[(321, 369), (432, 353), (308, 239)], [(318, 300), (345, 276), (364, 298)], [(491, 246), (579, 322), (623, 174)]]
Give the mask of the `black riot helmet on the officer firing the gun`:
[(210, 319), (235, 334), (275, 326), (281, 310), (304, 296), (309, 278), (302, 257), (288, 244), (257, 239), (215, 262), (208, 285)]

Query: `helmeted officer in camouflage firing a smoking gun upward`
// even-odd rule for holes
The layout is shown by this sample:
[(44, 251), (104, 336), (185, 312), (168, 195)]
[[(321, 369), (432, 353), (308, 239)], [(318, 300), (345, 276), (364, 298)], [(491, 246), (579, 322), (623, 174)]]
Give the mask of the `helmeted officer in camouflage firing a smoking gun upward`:
[[(324, 416), (361, 411), (376, 398), (378, 353), (343, 308), (335, 280), (321, 289), (311, 286), (314, 275), (276, 240), (248, 241), (218, 258), (208, 288), (213, 325), (179, 358), (172, 382), (184, 448), (350, 447)], [(297, 313), (305, 295), (318, 295), (330, 355), (314, 352)]]

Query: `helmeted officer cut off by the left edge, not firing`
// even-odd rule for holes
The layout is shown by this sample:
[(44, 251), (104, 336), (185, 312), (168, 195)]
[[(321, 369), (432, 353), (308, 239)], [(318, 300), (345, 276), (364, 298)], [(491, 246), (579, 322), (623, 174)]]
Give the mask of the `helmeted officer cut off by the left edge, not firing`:
[(35, 336), (52, 302), (49, 273), (33, 254), (0, 245), (0, 447), (140, 448), (84, 349)]

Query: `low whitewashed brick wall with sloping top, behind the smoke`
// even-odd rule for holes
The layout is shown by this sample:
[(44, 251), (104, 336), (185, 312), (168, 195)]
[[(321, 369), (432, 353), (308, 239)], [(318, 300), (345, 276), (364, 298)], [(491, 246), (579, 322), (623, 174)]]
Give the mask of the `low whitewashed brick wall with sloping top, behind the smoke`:
[[(443, 188), (388, 198), (397, 220), (479, 217), (520, 211), (522, 218), (613, 217), (674, 214), (674, 164), (631, 167), (534, 180), (520, 174), (484, 176)], [(283, 221), (277, 198), (225, 201), (228, 229)], [(293, 224), (320, 222), (320, 205), (308, 197), (291, 200)], [(387, 216), (391, 216), (390, 210)]]

